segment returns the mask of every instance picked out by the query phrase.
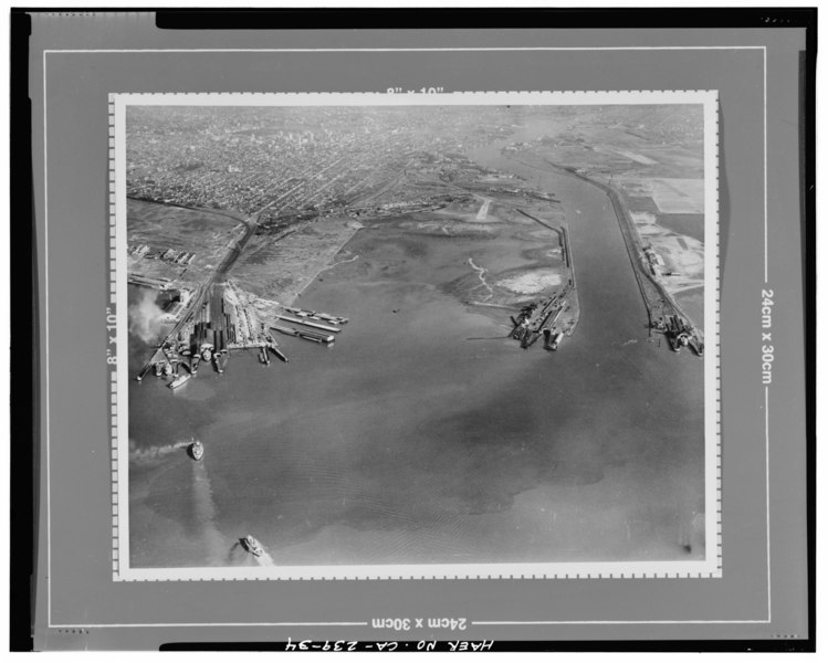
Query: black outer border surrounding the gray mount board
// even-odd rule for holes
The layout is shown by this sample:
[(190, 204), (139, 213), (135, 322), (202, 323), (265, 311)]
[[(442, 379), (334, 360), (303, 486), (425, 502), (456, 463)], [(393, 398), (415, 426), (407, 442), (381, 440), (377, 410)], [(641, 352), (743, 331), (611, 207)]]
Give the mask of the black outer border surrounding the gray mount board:
[[(153, 8), (140, 8), (153, 11)], [(10, 17), (10, 651), (32, 651), (34, 514), (39, 502), (40, 404), (34, 380), (38, 356), (36, 242), (32, 172), (32, 117), (29, 98), (29, 38), (32, 13), (65, 12), (65, 8), (12, 8)], [(75, 8), (73, 11), (101, 11)], [(113, 10), (108, 10), (113, 11)], [(137, 11), (120, 8), (117, 12)], [(672, 641), (499, 641), (491, 651), (703, 651), (703, 652), (815, 652), (816, 651), (816, 8), (741, 9), (277, 9), (277, 10), (156, 10), (164, 30), (327, 30), (394, 28), (804, 28), (806, 50), (800, 71), (800, 159), (803, 179), (803, 304), (805, 311), (806, 485), (808, 552), (807, 640), (672, 640)], [(24, 220), (29, 220), (27, 223)], [(10, 315), (11, 319), (11, 315)], [(29, 443), (31, 441), (31, 444)], [(374, 644), (374, 646), (367, 646)], [(400, 642), (397, 651), (405, 651)], [(165, 651), (284, 651), (284, 642), (180, 642)], [(448, 651), (440, 642), (434, 651)], [(363, 642), (357, 650), (377, 651)]]

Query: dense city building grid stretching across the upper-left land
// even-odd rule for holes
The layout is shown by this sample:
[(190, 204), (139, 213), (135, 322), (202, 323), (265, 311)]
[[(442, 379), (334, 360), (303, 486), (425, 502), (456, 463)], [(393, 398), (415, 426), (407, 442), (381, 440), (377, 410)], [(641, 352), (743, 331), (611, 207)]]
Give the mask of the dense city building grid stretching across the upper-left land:
[[(449, 109), (451, 110), (451, 109)], [(379, 191), (413, 156), (482, 145), (502, 109), (130, 107), (127, 194), (245, 214), (329, 213)]]

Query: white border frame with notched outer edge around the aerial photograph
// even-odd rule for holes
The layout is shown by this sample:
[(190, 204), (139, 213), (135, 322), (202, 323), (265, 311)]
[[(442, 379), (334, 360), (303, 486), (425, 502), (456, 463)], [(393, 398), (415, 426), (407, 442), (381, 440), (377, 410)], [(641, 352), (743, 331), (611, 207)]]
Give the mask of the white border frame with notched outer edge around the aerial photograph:
[[(699, 104), (704, 126), (704, 229), (705, 276), (704, 337), (704, 495), (705, 559), (648, 561), (589, 561), (548, 564), (437, 564), (381, 566), (294, 566), (294, 567), (192, 567), (133, 568), (129, 565), (129, 514), (118, 504), (129, 504), (129, 457), (127, 412), (128, 370), (118, 364), (113, 370), (113, 496), (114, 580), (358, 580), (358, 579), (492, 579), (492, 578), (717, 578), (721, 577), (721, 453), (719, 412), (719, 94), (715, 91), (626, 91), (626, 92), (470, 92), (446, 94), (386, 93), (203, 93), (203, 94), (113, 94), (109, 96), (109, 140), (114, 159), (109, 164), (111, 190), (115, 196), (114, 256), (117, 298), (118, 354), (127, 343), (126, 274), (126, 108), (127, 106), (583, 106), (583, 105), (671, 105)], [(111, 206), (112, 210), (112, 206)], [(112, 232), (112, 230), (111, 230)], [(112, 242), (112, 240), (111, 240)], [(122, 413), (118, 424), (118, 411)]]

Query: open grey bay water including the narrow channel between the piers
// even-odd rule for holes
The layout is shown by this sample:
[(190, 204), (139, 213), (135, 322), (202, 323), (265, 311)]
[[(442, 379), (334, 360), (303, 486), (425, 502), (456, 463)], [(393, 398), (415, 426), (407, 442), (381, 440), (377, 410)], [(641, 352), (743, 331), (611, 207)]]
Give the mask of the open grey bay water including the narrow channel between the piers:
[(473, 158), (562, 201), (575, 335), (522, 350), (509, 312), (439, 287), (468, 274), (464, 240), (359, 231), (296, 302), (350, 318), (333, 347), (279, 338), (290, 364), (234, 354), (175, 393), (130, 380), (136, 449), (206, 446), (198, 475), (184, 451), (130, 462), (134, 566), (255, 564), (245, 534), (280, 566), (703, 557), (703, 362), (648, 335), (609, 199)]

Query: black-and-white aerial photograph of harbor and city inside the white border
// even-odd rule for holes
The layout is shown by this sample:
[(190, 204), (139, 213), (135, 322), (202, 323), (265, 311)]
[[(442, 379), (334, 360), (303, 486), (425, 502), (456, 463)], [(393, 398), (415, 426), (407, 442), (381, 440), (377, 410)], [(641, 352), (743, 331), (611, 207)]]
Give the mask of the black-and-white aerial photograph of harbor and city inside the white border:
[(705, 559), (702, 104), (125, 119), (132, 568)]

